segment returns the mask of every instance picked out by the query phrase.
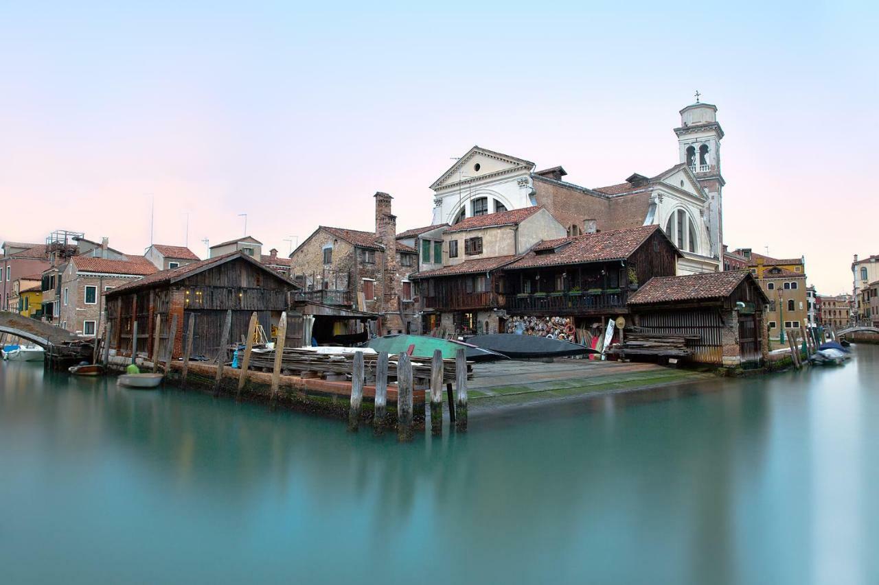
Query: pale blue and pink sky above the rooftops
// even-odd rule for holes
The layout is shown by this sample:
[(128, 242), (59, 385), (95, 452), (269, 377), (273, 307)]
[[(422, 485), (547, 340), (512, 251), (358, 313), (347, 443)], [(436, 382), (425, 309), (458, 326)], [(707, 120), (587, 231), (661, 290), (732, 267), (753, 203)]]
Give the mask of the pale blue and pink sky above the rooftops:
[[(431, 222), (475, 144), (620, 183), (715, 104), (724, 240), (805, 256), (819, 293), (879, 254), (879, 8), (825, 3), (0, 2), (0, 240), (142, 253), (247, 231)], [(128, 3), (134, 4), (134, 3)], [(424, 5), (422, 5), (424, 4)], [(188, 226), (188, 230), (187, 230)]]

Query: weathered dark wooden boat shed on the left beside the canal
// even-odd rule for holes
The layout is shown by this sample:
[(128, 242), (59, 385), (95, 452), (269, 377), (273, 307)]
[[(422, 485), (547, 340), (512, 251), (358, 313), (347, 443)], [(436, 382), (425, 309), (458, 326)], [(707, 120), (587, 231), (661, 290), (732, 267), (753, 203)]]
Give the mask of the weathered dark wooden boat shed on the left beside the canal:
[[(159, 271), (105, 293), (107, 343), (117, 355), (131, 356), (137, 323), (137, 351), (151, 352), (158, 315), (159, 355), (166, 355), (176, 315), (172, 357), (183, 355), (188, 323), (194, 318), (193, 358), (213, 359), (229, 343), (220, 339), (229, 309), (229, 339), (233, 342), (247, 335), (254, 311), (265, 334), (272, 336), (272, 326), (277, 326), (297, 288), (291, 280), (240, 251)], [(288, 337), (291, 333), (288, 329)], [(301, 339), (292, 343), (300, 345)]]

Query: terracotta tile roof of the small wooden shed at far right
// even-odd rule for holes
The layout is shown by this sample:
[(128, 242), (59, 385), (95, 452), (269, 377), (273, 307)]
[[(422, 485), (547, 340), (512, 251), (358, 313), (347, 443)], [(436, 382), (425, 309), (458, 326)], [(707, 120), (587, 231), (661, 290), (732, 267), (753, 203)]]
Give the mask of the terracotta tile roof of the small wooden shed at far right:
[(752, 278), (751, 273), (726, 271), (653, 277), (628, 296), (628, 304), (652, 305), (675, 300), (723, 299), (735, 291), (745, 278)]

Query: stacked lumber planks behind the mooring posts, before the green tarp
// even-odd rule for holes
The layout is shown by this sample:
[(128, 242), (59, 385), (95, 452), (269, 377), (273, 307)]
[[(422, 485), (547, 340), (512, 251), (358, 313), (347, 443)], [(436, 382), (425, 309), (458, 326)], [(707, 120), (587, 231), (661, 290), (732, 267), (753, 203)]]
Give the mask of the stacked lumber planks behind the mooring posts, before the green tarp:
[[(275, 351), (254, 351), (251, 354), (251, 368), (271, 370), (274, 367)], [(378, 354), (363, 354), (364, 370), (369, 375), (375, 375), (378, 363)], [(415, 379), (430, 379), (431, 358), (410, 358), (412, 365), (412, 377)], [(324, 354), (309, 350), (284, 348), (281, 357), (281, 370), (288, 372), (315, 372), (320, 374), (350, 374), (354, 366), (354, 354)], [(468, 371), (470, 363), (468, 363)], [(388, 375), (396, 378), (396, 356), (389, 356)], [(454, 359), (443, 360), (443, 381), (455, 381)]]

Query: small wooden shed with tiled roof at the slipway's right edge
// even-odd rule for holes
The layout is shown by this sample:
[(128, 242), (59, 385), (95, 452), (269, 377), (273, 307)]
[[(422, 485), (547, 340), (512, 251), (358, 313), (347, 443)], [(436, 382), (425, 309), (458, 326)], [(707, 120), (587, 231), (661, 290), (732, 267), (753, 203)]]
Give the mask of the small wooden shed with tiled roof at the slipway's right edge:
[(628, 298), (636, 330), (697, 337), (693, 361), (724, 366), (766, 357), (768, 303), (748, 271), (650, 278)]

